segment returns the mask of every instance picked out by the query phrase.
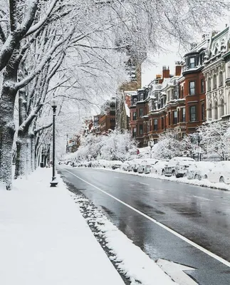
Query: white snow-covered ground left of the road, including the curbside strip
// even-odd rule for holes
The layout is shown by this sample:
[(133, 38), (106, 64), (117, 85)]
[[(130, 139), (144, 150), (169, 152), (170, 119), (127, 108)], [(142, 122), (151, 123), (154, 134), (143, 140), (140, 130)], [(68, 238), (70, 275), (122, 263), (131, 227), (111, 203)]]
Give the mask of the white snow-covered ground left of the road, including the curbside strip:
[[(0, 284), (124, 285), (80, 213), (85, 201), (58, 180), (49, 187), (51, 169), (39, 168), (12, 191), (0, 187)], [(90, 222), (132, 285), (175, 285), (97, 209)]]

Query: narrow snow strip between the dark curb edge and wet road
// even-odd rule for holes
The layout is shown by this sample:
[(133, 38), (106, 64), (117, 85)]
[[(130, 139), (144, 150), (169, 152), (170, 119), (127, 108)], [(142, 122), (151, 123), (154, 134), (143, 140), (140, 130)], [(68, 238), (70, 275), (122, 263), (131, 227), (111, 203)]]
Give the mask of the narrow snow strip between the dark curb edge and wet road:
[(130, 280), (131, 285), (176, 285), (155, 261), (142, 252), (140, 247), (135, 246), (83, 194), (73, 197), (90, 228), (94, 229), (98, 242), (104, 248), (107, 247), (111, 261), (122, 274), (125, 274), (125, 278)]

